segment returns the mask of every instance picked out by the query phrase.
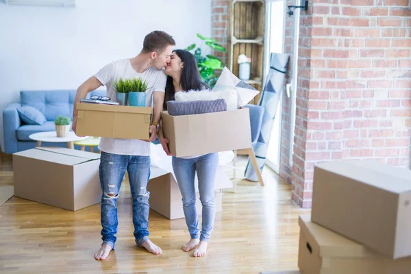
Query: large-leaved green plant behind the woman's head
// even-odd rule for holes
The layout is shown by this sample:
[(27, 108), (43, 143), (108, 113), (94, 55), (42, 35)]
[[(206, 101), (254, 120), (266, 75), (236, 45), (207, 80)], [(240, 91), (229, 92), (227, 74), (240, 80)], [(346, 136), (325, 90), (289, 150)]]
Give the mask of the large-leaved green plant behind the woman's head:
[[(216, 56), (207, 53), (212, 50), (223, 52), (225, 52), (226, 50), (213, 38), (206, 38), (201, 34), (197, 34), (197, 37), (202, 40), (201, 46), (195, 49), (196, 45), (192, 44), (185, 50), (194, 51), (193, 55), (195, 57), (195, 60), (197, 61), (201, 79), (206, 82), (208, 86), (213, 88), (217, 82), (217, 79), (219, 79), (216, 74), (219, 75), (221, 73), (221, 71), (224, 69), (224, 64), (223, 62), (221, 62), (221, 60), (219, 60), (219, 58), (216, 58)], [(206, 47), (206, 49), (203, 49), (204, 44), (208, 46)]]

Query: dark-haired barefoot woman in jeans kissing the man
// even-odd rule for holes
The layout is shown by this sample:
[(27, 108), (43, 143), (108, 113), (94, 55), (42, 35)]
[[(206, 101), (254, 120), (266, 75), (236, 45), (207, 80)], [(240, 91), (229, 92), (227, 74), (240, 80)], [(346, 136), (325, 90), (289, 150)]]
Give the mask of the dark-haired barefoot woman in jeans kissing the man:
[[(175, 92), (210, 89), (201, 82), (197, 63), (189, 51), (181, 49), (173, 51), (171, 60), (165, 67), (165, 72), (167, 81), (164, 109), (166, 109), (167, 101), (174, 100)], [(161, 129), (158, 131), (158, 138), (164, 151), (171, 155), (167, 145), (169, 141), (164, 138)], [(194, 257), (206, 256), (208, 240), (210, 240), (214, 227), (214, 184), (219, 166), (219, 155), (218, 153), (209, 153), (184, 158), (173, 156), (172, 162), (177, 184), (182, 192), (184, 215), (186, 216), (188, 232), (190, 232), (190, 240), (182, 246), (182, 249), (186, 252), (194, 249), (192, 253)], [(201, 232), (195, 206), (195, 173), (199, 179), (200, 201), (203, 206)]]

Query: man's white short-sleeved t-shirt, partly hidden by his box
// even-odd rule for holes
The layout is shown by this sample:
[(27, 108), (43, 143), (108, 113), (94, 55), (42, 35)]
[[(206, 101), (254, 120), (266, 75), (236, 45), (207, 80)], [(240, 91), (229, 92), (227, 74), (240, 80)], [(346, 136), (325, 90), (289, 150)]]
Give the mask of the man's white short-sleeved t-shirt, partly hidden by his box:
[[(143, 73), (137, 73), (130, 63), (129, 59), (114, 61), (107, 64), (95, 77), (107, 88), (107, 96), (111, 101), (117, 101), (116, 90), (113, 82), (122, 77), (129, 79), (133, 77), (141, 77), (147, 81), (146, 90), (146, 106), (151, 107), (153, 101), (153, 92), (165, 92), (167, 76), (163, 70), (158, 70), (153, 67), (147, 69)], [(104, 121), (101, 121), (104, 123)], [(138, 139), (120, 139), (101, 137), (99, 149), (101, 151), (120, 154), (120, 155), (150, 155), (150, 142), (145, 142)]]

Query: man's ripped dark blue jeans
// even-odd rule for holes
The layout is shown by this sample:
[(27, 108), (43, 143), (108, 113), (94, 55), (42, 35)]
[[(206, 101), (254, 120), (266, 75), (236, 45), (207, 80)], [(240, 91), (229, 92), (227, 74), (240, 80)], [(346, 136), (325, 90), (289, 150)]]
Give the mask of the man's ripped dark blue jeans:
[(138, 246), (148, 240), (149, 236), (149, 197), (147, 182), (150, 177), (150, 157), (136, 155), (117, 155), (101, 152), (100, 184), (101, 196), (101, 236), (102, 245), (110, 245), (114, 249), (116, 243), (117, 199), (121, 182), (129, 174), (130, 190), (133, 199), (134, 238)]

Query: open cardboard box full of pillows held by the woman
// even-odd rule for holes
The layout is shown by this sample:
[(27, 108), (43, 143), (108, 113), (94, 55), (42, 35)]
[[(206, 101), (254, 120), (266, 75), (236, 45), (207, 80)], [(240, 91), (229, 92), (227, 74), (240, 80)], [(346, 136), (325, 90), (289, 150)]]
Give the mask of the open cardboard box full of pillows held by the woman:
[(162, 112), (162, 129), (176, 157), (251, 147), (249, 109), (171, 116)]

